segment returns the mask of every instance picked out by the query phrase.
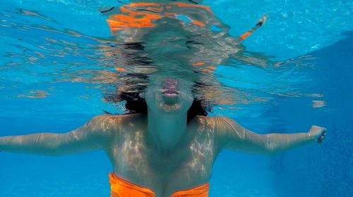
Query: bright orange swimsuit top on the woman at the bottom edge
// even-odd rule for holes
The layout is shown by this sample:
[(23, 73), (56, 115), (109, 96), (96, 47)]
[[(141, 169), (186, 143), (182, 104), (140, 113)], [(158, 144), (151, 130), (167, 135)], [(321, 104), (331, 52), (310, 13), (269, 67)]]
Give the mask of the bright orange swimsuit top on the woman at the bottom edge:
[[(110, 197), (155, 197), (155, 193), (131, 182), (125, 181), (114, 173), (109, 173)], [(192, 189), (177, 191), (171, 197), (208, 197), (210, 184), (203, 184)]]

